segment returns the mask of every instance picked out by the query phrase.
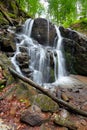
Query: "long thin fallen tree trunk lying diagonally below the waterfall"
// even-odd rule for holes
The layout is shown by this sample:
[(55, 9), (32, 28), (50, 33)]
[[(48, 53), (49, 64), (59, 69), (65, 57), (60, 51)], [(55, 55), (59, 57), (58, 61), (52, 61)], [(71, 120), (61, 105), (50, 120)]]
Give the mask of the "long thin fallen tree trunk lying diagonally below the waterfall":
[(63, 101), (62, 99), (58, 99), (57, 97), (55, 97), (54, 95), (52, 95), (50, 92), (48, 92), (46, 89), (44, 89), (43, 87), (41, 87), (40, 85), (34, 83), (32, 80), (30, 80), (29, 78), (20, 75), (18, 72), (16, 72), (15, 70), (13, 70), (12, 68), (9, 68), (10, 72), (15, 75), (16, 77), (18, 77), (19, 79), (23, 80), (24, 82), (30, 84), (32, 87), (40, 90), (43, 94), (47, 95), (48, 97), (50, 97), (53, 101), (55, 101), (57, 104), (59, 105), (63, 105), (67, 108), (69, 108), (69, 110), (71, 110), (73, 113), (77, 113), (80, 114), (82, 116), (86, 116), (87, 117), (87, 112), (77, 109), (73, 106), (71, 106), (69, 103)]

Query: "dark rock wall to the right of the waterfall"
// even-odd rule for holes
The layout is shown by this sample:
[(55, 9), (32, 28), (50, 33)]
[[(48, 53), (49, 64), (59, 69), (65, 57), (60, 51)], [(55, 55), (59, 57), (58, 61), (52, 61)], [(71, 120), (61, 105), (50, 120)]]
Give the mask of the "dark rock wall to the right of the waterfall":
[(87, 38), (76, 31), (63, 27), (60, 27), (60, 31), (64, 37), (67, 67), (71, 66), (78, 74), (87, 76)]

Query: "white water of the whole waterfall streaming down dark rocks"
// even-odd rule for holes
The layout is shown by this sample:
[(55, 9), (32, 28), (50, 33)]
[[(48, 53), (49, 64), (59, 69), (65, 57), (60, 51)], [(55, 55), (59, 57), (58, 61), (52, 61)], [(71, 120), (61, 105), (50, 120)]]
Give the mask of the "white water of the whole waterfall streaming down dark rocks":
[[(17, 50), (15, 52), (14, 57), (11, 58), (12, 63), (14, 64), (16, 71), (22, 74), (20, 67), (16, 62), (16, 56), (20, 53), (19, 47), (26, 47), (28, 50), (28, 55), (30, 57), (29, 69), (33, 71), (32, 78), (36, 83), (41, 85), (49, 84), (50, 75), (51, 75), (51, 66), (50, 66), (50, 55), (53, 54), (53, 62), (54, 62), (54, 81), (53, 83), (60, 83), (60, 79), (66, 76), (65, 69), (65, 60), (62, 52), (62, 37), (59, 31), (59, 28), (55, 26), (57, 33), (57, 43), (56, 47), (50, 47), (49, 45), (49, 21), (48, 24), (48, 36), (47, 36), (47, 46), (42, 46), (39, 43), (35, 42), (31, 38), (31, 31), (34, 20), (28, 19), (23, 28), (23, 34), (18, 35), (21, 39), (20, 43), (17, 43)], [(51, 53), (50, 53), (51, 52)], [(56, 55), (55, 55), (56, 53)]]

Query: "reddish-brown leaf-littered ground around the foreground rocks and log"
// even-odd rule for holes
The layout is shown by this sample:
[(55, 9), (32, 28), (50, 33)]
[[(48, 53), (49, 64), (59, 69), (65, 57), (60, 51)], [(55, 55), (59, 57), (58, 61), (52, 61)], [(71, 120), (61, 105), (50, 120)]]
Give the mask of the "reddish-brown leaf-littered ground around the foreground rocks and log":
[[(87, 111), (87, 77), (80, 75), (75, 76), (79, 79), (83, 85), (72, 88), (57, 88), (58, 98), (69, 102), (73, 106)], [(85, 83), (85, 85), (84, 85)], [(14, 87), (14, 84), (7, 86), (0, 92), (0, 96), (8, 91), (9, 88)], [(20, 121), (21, 113), (30, 106), (29, 101), (18, 100), (15, 97), (15, 91), (12, 97), (4, 98), (0, 100), (0, 130), (68, 130), (67, 127), (61, 127), (53, 122), (53, 115), (55, 113), (44, 113), (45, 117), (50, 117), (50, 120), (42, 124), (41, 126), (31, 127)], [(59, 111), (63, 111), (65, 108), (61, 106)], [(87, 130), (87, 118), (69, 112), (70, 119), (76, 124), (77, 130)]]

